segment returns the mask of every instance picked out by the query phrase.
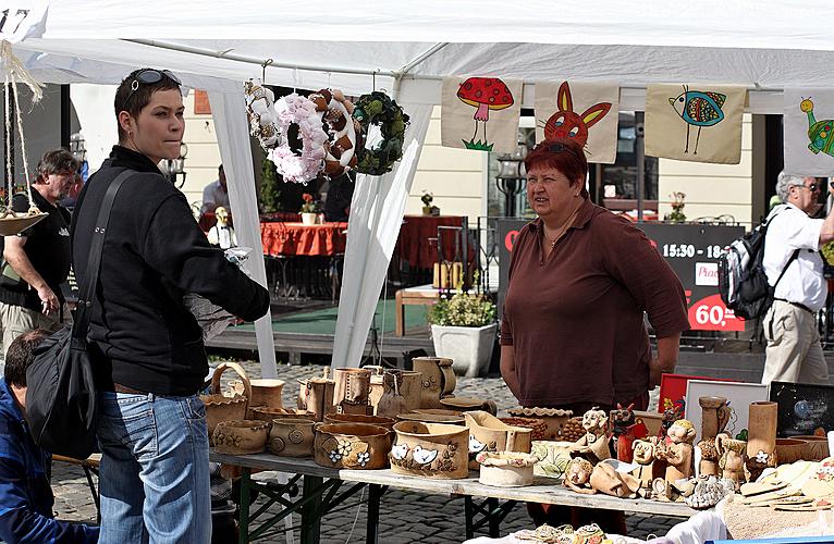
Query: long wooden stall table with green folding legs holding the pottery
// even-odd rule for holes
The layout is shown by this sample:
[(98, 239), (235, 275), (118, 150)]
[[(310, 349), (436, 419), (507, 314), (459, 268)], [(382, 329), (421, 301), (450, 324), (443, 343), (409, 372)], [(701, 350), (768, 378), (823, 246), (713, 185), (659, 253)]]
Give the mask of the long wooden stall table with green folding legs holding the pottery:
[[(429, 493), (433, 495), (463, 496), (465, 499), (466, 537), (473, 537), (475, 529), (489, 523), (489, 532), (493, 537), (499, 536), (500, 523), (518, 502), (548, 503), (565, 506), (581, 506), (608, 510), (625, 510), (639, 514), (688, 518), (696, 510), (680, 503), (661, 503), (646, 499), (617, 498), (609, 495), (581, 495), (563, 485), (554, 483), (553, 479), (537, 478), (533, 485), (526, 487), (494, 487), (478, 482), (477, 472), (463, 480), (430, 480), (428, 478), (395, 474), (390, 469), (383, 470), (339, 470), (317, 465), (312, 459), (295, 459), (269, 454), (255, 455), (222, 455), (211, 452), (214, 462), (224, 462), (242, 467), (241, 478), (241, 543), (249, 539), (262, 537), (286, 516), (301, 510), (302, 544), (319, 542), (321, 518), (338, 507), (349, 496), (364, 486), (368, 486), (368, 523), (366, 542), (378, 542), (379, 505), (382, 495), (389, 487)], [(295, 474), (287, 484), (278, 491), (258, 485), (250, 479), (252, 470), (275, 470)], [(304, 477), (302, 494), (295, 502), (282, 496), (290, 486)], [(338, 495), (343, 483), (353, 484)], [(249, 491), (258, 485), (260, 493), (269, 500), (266, 505), (250, 514)], [(486, 497), (478, 505), (473, 496)], [(500, 504), (500, 500), (504, 500)], [(281, 504), (284, 509), (280, 514), (265, 520), (257, 529), (249, 531), (249, 524), (268, 512), (273, 504)], [(482, 515), (478, 521), (476, 515)]]

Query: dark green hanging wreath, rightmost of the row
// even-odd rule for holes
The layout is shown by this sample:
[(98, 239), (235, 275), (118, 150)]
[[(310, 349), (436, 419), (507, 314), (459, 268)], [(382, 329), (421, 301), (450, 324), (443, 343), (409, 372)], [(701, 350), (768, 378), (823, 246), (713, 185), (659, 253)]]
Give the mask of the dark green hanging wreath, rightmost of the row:
[(363, 146), (357, 150), (359, 162), (356, 170), (370, 175), (391, 172), (394, 163), (403, 157), (408, 115), (388, 95), (375, 90), (359, 97), (354, 104), (353, 118), (359, 122), (366, 138), (371, 125), (379, 126), (382, 133), (382, 139), (370, 148)]

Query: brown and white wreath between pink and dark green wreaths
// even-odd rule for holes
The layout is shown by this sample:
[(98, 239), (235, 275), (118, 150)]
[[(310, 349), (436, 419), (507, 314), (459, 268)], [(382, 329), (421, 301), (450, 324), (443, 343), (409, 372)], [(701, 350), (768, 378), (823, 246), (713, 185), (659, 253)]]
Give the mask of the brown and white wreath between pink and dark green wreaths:
[(357, 124), (351, 115), (354, 106), (339, 89), (321, 89), (309, 98), (316, 103), (329, 135), (324, 174), (339, 177), (357, 163)]

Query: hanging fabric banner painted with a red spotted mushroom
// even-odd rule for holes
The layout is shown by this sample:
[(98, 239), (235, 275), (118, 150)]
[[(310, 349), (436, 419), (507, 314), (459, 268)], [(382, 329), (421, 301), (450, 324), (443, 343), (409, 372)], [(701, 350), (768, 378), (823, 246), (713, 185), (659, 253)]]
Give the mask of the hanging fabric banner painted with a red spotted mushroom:
[(522, 81), (443, 79), (440, 134), (446, 147), (508, 153), (518, 143)]

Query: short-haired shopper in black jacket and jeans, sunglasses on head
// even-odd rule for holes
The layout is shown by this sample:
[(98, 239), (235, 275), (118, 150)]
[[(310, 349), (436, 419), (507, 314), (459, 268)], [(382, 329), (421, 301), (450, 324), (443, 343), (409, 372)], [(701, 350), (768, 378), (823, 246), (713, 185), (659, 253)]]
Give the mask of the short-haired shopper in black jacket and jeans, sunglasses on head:
[(183, 305), (196, 293), (247, 321), (267, 289), (212, 248), (185, 196), (157, 163), (180, 154), (183, 99), (168, 71), (132, 72), (116, 89), (119, 145), (82, 189), (73, 215), (79, 284), (105, 193), (123, 171), (105, 235), (89, 341), (99, 387), (101, 540), (211, 539), (208, 432), (197, 396), (208, 372), (203, 331)]

